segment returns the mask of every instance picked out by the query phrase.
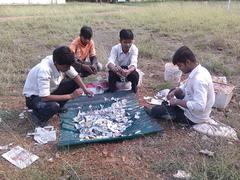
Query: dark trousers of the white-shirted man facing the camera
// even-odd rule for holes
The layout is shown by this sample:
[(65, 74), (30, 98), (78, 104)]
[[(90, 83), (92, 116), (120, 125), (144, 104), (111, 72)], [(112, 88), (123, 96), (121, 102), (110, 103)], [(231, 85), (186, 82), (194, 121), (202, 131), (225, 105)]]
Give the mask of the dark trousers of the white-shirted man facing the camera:
[[(127, 66), (121, 66), (121, 68), (123, 69), (128, 69)], [(139, 81), (139, 74), (136, 70), (134, 70), (133, 72), (131, 72), (127, 77), (126, 77), (127, 81), (130, 81), (132, 83), (132, 91), (134, 93), (137, 92), (137, 85), (138, 85), (138, 81)], [(115, 72), (113, 71), (109, 71), (109, 76), (108, 76), (108, 83), (109, 83), (109, 90), (111, 92), (114, 92), (117, 90), (116, 88), (116, 82), (117, 81), (121, 81), (121, 78), (119, 75), (117, 75)]]

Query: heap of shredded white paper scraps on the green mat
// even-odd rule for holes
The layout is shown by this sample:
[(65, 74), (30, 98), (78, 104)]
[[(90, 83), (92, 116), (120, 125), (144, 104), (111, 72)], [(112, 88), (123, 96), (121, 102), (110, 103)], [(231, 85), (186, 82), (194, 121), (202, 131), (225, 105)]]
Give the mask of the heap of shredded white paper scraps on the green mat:
[[(122, 132), (131, 125), (132, 121), (128, 120), (125, 112), (126, 99), (116, 100), (111, 107), (104, 108), (103, 105), (99, 110), (90, 110), (81, 112), (73, 118), (75, 128), (79, 131), (79, 138), (84, 139), (101, 139), (121, 136)], [(90, 106), (91, 109), (91, 106)], [(137, 115), (137, 116), (136, 116)], [(138, 113), (135, 118), (137, 119)]]

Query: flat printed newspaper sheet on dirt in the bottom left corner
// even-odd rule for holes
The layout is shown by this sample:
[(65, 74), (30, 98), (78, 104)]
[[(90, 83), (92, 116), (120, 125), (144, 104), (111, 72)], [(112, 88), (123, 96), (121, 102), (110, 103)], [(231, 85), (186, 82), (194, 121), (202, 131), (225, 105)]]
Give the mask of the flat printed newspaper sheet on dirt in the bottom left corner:
[(26, 168), (39, 158), (20, 146), (12, 148), (4, 153), (2, 157), (20, 169)]

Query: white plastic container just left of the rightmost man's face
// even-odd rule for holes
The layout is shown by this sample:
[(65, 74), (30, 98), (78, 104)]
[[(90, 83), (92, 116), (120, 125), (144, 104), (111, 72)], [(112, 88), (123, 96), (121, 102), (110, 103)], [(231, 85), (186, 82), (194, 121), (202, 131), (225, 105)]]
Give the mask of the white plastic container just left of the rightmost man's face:
[(164, 80), (170, 82), (174, 86), (178, 86), (181, 81), (182, 71), (178, 66), (172, 63), (165, 64)]

